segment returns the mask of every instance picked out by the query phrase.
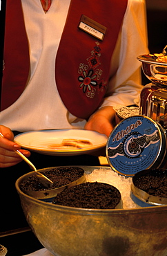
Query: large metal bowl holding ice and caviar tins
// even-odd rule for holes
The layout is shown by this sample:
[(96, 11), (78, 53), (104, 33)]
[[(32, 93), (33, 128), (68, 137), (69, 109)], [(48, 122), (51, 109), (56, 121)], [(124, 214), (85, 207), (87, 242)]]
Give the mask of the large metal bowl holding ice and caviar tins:
[[(86, 174), (101, 169), (82, 168)], [(53, 255), (167, 255), (167, 206), (95, 210), (53, 205), (21, 192), (19, 185), (27, 176), (16, 182), (23, 212), (41, 244)]]

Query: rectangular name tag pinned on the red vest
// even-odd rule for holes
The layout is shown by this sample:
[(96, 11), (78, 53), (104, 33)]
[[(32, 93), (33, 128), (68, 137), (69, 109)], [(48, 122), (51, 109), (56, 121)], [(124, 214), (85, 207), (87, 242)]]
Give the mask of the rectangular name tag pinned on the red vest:
[(79, 28), (86, 33), (92, 35), (93, 37), (100, 39), (101, 41), (103, 41), (104, 35), (106, 34), (107, 30), (105, 26), (99, 24), (97, 21), (88, 18), (86, 15), (81, 16)]

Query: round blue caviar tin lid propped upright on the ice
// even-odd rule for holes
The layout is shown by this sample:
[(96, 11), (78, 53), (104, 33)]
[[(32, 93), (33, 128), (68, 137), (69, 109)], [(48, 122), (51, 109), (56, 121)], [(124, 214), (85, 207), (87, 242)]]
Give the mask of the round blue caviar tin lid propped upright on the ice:
[(146, 116), (131, 116), (119, 122), (106, 146), (110, 167), (125, 176), (159, 168), (164, 164), (165, 155), (165, 131)]

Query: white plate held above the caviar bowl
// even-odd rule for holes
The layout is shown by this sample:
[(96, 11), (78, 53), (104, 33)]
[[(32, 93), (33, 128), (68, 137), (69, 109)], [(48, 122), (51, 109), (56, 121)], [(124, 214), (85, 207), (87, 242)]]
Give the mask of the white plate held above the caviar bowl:
[[(61, 143), (64, 138), (89, 140), (92, 145), (81, 149), (50, 148), (50, 145)], [(106, 147), (107, 140), (108, 138), (104, 134), (82, 129), (28, 131), (14, 137), (14, 141), (25, 149), (40, 154), (67, 156), (96, 151), (101, 147)]]

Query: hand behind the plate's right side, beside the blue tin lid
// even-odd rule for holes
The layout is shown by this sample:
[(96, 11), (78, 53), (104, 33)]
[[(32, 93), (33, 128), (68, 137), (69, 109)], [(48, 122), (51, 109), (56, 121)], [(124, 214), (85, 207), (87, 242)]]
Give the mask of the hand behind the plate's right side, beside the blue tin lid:
[(115, 127), (115, 111), (112, 107), (102, 107), (90, 116), (84, 129), (98, 131), (100, 134), (110, 136), (112, 129)]

